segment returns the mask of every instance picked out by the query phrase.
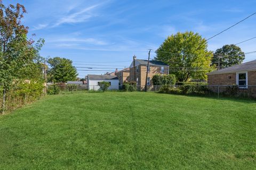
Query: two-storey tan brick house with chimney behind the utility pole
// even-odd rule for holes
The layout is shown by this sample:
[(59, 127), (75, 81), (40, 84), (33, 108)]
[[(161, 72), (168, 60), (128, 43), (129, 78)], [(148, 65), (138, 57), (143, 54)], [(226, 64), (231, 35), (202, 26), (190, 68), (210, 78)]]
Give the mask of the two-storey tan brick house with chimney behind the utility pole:
[[(139, 60), (133, 56), (133, 62), (130, 65), (130, 81), (136, 81), (137, 85), (145, 86), (147, 60)], [(169, 65), (159, 61), (149, 61), (147, 86), (153, 85), (152, 78), (155, 74), (169, 74)]]

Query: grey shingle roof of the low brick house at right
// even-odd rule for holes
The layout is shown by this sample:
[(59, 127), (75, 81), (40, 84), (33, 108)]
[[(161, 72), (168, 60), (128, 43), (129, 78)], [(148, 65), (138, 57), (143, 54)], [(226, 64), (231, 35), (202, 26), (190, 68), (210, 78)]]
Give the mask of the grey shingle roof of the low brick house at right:
[(238, 71), (252, 71), (256, 70), (256, 60), (246, 62), (243, 64), (237, 64), (231, 67), (227, 67), (225, 69), (220, 69), (217, 71), (210, 72), (208, 74), (221, 74), (221, 73), (229, 73), (229, 72), (238, 72)]

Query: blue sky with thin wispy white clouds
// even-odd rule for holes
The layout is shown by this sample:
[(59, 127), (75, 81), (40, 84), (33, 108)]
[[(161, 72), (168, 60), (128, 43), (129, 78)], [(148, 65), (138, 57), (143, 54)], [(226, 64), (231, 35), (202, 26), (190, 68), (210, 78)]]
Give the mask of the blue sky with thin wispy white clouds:
[[(65, 57), (73, 60), (75, 66), (113, 71), (115, 67), (129, 66), (133, 55), (146, 59), (148, 49), (157, 49), (168, 35), (191, 30), (209, 38), (256, 12), (255, 0), (3, 2), (25, 5), (28, 13), (22, 21), (30, 28), (29, 35), (36, 33), (35, 39), (45, 39), (42, 56)], [(256, 15), (209, 40), (209, 50), (255, 37), (255, 21)], [(255, 43), (253, 39), (239, 46), (244, 52), (252, 52), (256, 50)], [(154, 56), (155, 53), (151, 58)], [(253, 59), (256, 54), (246, 55), (245, 61)], [(78, 73), (83, 78), (104, 72)]]

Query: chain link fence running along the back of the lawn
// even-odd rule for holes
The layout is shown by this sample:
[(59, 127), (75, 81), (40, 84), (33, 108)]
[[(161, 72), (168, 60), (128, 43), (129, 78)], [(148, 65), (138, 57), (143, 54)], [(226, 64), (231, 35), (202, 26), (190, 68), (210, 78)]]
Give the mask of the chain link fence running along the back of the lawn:
[[(61, 91), (85, 91), (100, 92), (100, 86), (88, 85), (62, 85), (58, 86)], [(145, 86), (110, 86), (107, 91), (145, 91)], [(238, 87), (236, 85), (174, 85), (174, 86), (147, 86), (147, 92), (158, 92), (162, 94), (177, 94), (206, 97), (239, 97), (239, 98), (256, 98), (256, 85)]]

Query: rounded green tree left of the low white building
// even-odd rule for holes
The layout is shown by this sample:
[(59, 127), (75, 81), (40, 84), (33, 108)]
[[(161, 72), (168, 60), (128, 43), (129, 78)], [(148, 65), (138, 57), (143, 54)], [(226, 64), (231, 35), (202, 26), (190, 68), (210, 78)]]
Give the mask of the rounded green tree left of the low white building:
[(76, 80), (78, 74), (71, 60), (54, 57), (49, 58), (48, 63), (51, 65), (49, 81), (67, 82)]

